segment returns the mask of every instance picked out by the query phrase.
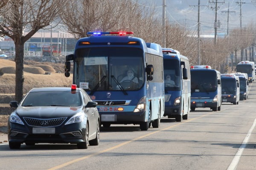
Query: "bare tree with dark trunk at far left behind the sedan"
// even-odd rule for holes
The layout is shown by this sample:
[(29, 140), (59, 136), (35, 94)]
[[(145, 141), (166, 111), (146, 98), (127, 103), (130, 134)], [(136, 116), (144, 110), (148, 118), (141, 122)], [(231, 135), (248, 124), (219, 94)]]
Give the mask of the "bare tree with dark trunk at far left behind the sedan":
[(15, 43), (15, 98), (18, 102), (23, 97), (24, 44), (39, 29), (58, 20), (60, 9), (66, 5), (67, 1), (9, 0), (0, 9), (0, 15), (2, 16), (0, 36), (8, 36)]

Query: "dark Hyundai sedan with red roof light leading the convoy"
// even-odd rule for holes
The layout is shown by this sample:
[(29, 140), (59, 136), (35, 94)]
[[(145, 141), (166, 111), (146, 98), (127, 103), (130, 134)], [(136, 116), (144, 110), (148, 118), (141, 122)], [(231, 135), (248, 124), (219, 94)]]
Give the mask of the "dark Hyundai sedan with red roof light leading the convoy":
[(99, 144), (97, 102), (87, 93), (72, 88), (33, 88), (9, 118), (8, 140), (11, 149), (20, 144), (70, 143), (79, 149)]

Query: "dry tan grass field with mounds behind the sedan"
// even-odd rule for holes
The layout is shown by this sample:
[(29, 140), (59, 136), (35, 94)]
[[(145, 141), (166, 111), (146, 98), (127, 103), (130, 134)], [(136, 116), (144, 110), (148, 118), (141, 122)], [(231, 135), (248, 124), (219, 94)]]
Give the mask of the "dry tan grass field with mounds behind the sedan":
[[(70, 87), (72, 84), (73, 74), (68, 78), (64, 76), (64, 63), (24, 61), (24, 64), (24, 94), (32, 88)], [(0, 59), (0, 72), (3, 73), (0, 76), (0, 103), (7, 104), (15, 99), (15, 62)], [(46, 72), (51, 74), (45, 74)], [(8, 107), (2, 105), (0, 113)], [(6, 133), (8, 117), (0, 115), (0, 132)]]

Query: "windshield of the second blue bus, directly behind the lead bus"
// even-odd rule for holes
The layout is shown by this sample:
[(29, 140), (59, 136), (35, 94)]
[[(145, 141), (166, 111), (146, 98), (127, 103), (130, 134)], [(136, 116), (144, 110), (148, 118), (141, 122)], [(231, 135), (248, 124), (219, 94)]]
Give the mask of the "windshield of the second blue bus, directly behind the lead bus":
[(166, 91), (180, 91), (180, 62), (176, 59), (165, 59), (164, 86)]

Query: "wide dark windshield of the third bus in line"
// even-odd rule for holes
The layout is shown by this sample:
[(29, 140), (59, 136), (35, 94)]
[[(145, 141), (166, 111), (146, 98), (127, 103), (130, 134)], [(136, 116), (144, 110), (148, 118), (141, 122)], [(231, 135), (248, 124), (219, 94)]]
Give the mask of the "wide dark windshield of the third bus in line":
[(215, 71), (191, 71), (191, 92), (214, 92), (217, 90)]

